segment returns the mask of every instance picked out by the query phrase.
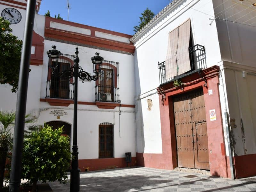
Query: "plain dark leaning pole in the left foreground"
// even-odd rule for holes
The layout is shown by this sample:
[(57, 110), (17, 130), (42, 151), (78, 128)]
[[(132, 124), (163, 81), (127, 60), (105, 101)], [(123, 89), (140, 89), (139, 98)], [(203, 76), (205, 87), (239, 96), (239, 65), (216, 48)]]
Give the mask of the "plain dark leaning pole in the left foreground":
[(28, 0), (27, 13), (20, 60), (20, 75), (16, 103), (16, 118), (13, 134), (10, 192), (20, 191), (21, 156), (28, 93), (28, 73), (31, 55), (32, 34), (36, 11), (36, 0)]

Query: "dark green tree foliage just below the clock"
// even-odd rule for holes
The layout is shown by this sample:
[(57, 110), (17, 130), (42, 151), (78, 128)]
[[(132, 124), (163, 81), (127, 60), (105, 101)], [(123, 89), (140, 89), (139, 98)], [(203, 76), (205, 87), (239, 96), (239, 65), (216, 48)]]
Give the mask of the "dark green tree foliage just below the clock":
[(14, 36), (10, 22), (0, 17), (0, 84), (18, 89), (22, 41)]

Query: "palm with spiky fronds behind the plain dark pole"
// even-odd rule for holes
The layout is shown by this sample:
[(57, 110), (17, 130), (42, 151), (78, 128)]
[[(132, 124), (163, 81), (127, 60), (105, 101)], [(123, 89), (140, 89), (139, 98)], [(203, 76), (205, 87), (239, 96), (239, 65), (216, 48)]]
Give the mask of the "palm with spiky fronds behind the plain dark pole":
[[(8, 157), (8, 151), (12, 149), (12, 128), (14, 126), (15, 113), (12, 111), (0, 111), (0, 191), (3, 189), (4, 168)], [(26, 135), (37, 130), (37, 119), (34, 116), (26, 115)], [(9, 156), (9, 158), (11, 158)], [(7, 165), (8, 166), (8, 165)], [(9, 170), (10, 171), (10, 170)]]

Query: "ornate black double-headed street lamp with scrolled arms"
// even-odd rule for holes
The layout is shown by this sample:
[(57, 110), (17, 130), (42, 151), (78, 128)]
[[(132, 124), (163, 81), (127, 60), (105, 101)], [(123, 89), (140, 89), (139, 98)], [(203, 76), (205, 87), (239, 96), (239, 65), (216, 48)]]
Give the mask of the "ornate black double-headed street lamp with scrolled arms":
[(90, 76), (90, 74), (86, 71), (84, 71), (81, 67), (79, 67), (79, 58), (78, 58), (78, 48), (76, 46), (75, 51), (75, 58), (74, 58), (74, 65), (72, 65), (68, 70), (64, 70), (61, 72), (58, 72), (58, 58), (60, 56), (60, 51), (56, 50), (56, 46), (52, 46), (52, 50), (47, 51), (48, 57), (51, 59), (56, 59), (56, 62), (54, 62), (54, 66), (52, 66), (52, 75), (56, 77), (67, 77), (67, 78), (73, 78), (75, 79), (74, 84), (74, 122), (73, 122), (73, 146), (72, 146), (72, 161), (71, 161), (71, 170), (70, 170), (70, 192), (78, 192), (79, 191), (79, 172), (78, 169), (78, 152), (77, 152), (77, 83), (78, 83), (78, 77), (80, 79), (84, 80), (87, 79), (88, 81), (96, 81), (99, 77), (100, 68), (102, 64), (103, 57), (100, 57), (100, 53), (96, 53), (96, 56), (93, 56), (91, 58), (93, 63), (93, 72), (95, 75)]

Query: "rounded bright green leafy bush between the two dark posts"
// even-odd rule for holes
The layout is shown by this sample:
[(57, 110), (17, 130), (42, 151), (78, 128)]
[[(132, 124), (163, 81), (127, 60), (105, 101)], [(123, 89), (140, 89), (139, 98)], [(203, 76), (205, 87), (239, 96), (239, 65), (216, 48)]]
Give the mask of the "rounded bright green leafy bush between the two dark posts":
[(65, 183), (67, 169), (70, 167), (71, 153), (69, 138), (61, 136), (62, 128), (53, 130), (44, 125), (38, 132), (24, 140), (22, 155), (22, 178), (33, 183), (46, 180)]

